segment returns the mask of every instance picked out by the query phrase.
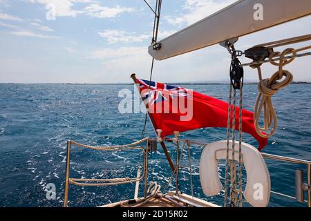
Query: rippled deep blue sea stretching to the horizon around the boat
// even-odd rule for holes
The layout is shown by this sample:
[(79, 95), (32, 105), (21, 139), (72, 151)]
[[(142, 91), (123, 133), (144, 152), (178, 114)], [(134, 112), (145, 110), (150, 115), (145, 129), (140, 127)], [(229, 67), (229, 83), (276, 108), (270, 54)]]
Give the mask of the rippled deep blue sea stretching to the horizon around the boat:
[[(185, 88), (227, 101), (228, 86), (189, 84)], [(140, 140), (144, 113), (121, 114), (122, 89), (133, 85), (0, 84), (0, 206), (62, 206), (66, 167), (66, 141), (82, 144), (119, 145)], [(252, 111), (256, 85), (245, 85), (245, 108)], [(278, 129), (263, 152), (311, 160), (311, 84), (292, 84), (273, 97)], [(147, 123), (146, 135), (154, 137)], [(202, 142), (225, 140), (225, 128), (201, 128), (182, 138)], [(256, 146), (249, 135), (244, 142)], [(176, 147), (168, 145), (173, 159)], [(223, 204), (223, 193), (213, 198), (202, 193), (198, 165), (202, 146), (191, 146), (194, 195)], [(73, 147), (70, 177), (135, 177), (140, 153), (108, 153)], [(181, 160), (180, 189), (191, 194), (188, 151)], [(272, 190), (294, 196), (294, 172), (304, 166), (267, 160)], [(224, 166), (220, 164), (220, 174)], [(158, 151), (149, 156), (149, 181), (167, 185), (171, 171)], [(245, 181), (245, 180), (244, 180)], [(46, 185), (55, 184), (56, 199), (46, 198)], [(174, 181), (168, 189), (174, 189)], [(70, 186), (69, 206), (100, 206), (133, 198), (135, 184), (106, 187)], [(140, 184), (140, 195), (142, 195)], [(269, 206), (306, 206), (272, 193)]]

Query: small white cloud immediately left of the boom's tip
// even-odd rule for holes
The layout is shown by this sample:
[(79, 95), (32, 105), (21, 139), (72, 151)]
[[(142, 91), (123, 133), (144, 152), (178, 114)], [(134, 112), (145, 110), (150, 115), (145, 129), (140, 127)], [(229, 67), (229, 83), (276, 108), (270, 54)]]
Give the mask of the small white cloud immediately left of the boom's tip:
[(114, 29), (104, 30), (103, 32), (98, 32), (98, 34), (106, 39), (109, 44), (115, 44), (118, 42), (141, 42), (150, 38), (150, 35), (138, 35), (135, 32), (126, 32)]

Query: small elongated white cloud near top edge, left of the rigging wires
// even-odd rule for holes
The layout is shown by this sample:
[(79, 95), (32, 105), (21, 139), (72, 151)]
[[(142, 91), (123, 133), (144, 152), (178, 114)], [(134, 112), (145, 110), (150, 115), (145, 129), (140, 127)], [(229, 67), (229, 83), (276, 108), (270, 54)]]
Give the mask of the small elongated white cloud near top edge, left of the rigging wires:
[(86, 13), (86, 15), (100, 19), (117, 17), (123, 12), (135, 12), (135, 8), (126, 8), (121, 6), (109, 8), (100, 6), (99, 4), (91, 4), (84, 9), (84, 13)]

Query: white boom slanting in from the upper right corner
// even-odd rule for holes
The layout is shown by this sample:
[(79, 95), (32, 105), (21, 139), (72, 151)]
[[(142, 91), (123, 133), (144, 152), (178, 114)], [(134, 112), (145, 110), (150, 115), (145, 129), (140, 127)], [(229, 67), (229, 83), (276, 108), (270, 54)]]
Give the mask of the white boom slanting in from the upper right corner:
[[(254, 18), (258, 3), (263, 6), (263, 20)], [(311, 0), (240, 0), (158, 41), (160, 50), (149, 46), (149, 54), (167, 59), (310, 14)]]

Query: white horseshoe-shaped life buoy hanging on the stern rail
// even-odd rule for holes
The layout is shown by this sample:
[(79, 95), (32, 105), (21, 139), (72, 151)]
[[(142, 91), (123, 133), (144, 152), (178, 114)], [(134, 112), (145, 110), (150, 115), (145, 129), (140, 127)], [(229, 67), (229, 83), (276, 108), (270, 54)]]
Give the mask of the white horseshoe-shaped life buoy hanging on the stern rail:
[[(238, 142), (236, 142), (238, 148)], [(249, 144), (242, 143), (243, 164), (245, 166), (247, 183), (244, 198), (255, 207), (265, 207), (270, 200), (270, 174), (259, 151)], [(207, 196), (217, 195), (223, 185), (218, 176), (218, 160), (226, 159), (227, 141), (208, 144), (202, 151), (200, 159), (200, 182)], [(238, 153), (235, 153), (238, 160)], [(229, 144), (229, 160), (232, 160), (232, 142)]]

